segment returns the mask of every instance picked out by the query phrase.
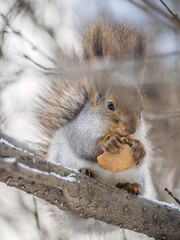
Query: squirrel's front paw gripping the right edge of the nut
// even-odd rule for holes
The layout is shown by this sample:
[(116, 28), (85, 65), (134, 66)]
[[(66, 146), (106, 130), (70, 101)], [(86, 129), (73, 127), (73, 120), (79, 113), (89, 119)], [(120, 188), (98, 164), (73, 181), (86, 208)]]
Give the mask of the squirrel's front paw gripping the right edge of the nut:
[(143, 144), (139, 140), (129, 141), (129, 144), (131, 145), (131, 149), (133, 151), (134, 162), (136, 162), (136, 164), (141, 163), (146, 155), (146, 150)]

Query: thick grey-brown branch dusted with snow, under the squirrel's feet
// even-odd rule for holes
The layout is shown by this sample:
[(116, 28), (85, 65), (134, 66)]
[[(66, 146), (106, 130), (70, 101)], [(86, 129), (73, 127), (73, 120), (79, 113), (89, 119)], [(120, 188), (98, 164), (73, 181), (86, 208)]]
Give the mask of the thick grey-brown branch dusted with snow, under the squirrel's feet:
[(134, 197), (76, 171), (42, 160), (0, 138), (0, 181), (59, 209), (94, 218), (155, 239), (179, 239), (180, 209)]

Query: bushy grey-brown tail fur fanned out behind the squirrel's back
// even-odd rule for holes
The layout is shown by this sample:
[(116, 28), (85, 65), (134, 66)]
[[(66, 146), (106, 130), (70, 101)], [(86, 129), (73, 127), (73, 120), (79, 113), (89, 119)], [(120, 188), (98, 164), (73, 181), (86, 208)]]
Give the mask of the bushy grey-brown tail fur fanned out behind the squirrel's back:
[(91, 95), (90, 88), (84, 76), (77, 80), (60, 79), (44, 89), (40, 111), (37, 113), (45, 142), (42, 145), (44, 150), (47, 150), (54, 132), (74, 119), (84, 107)]

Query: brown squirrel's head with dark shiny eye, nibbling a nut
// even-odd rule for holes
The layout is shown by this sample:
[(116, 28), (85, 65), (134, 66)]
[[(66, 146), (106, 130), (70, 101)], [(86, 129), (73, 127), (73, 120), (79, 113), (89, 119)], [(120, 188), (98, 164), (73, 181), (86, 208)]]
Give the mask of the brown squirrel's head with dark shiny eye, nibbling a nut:
[(111, 79), (104, 81), (103, 86), (96, 85), (92, 91), (91, 106), (108, 122), (104, 126), (107, 132), (126, 136), (138, 129), (143, 103), (140, 90), (133, 84), (125, 85)]

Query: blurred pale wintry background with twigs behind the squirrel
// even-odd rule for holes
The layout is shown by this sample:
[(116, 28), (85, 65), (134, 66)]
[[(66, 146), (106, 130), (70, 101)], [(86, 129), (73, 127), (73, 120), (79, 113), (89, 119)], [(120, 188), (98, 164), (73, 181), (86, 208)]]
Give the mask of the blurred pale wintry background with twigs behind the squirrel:
[[(81, 54), (81, 33), (88, 24), (104, 18), (136, 25), (144, 32), (147, 45), (142, 93), (151, 126), (153, 182), (158, 199), (174, 203), (164, 189), (167, 187), (180, 199), (178, 14), (178, 0), (0, 0), (1, 130), (24, 142), (35, 139), (31, 130), (35, 96), (50, 81), (51, 71), (66, 70), (72, 51)], [(27, 196), (0, 186), (0, 206), (4, 206), (0, 208), (1, 239), (43, 239), (34, 230), (34, 200), (29, 197), (32, 204), (28, 204), (24, 201)], [(15, 194), (20, 196), (18, 204), (10, 204), (16, 201)], [(26, 233), (17, 220), (19, 209), (23, 209), (21, 216), (26, 219)], [(47, 237), (47, 231), (43, 231)]]

